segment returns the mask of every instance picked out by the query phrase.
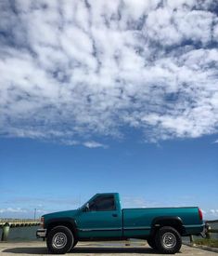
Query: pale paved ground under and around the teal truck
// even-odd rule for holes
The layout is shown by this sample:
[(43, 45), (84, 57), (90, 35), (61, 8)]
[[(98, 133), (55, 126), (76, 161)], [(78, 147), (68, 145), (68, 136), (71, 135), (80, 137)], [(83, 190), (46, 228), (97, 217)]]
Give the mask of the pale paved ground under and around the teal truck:
[[(0, 242), (0, 255), (47, 255), (45, 242), (26, 242), (26, 243), (11, 243)], [(78, 243), (78, 245), (66, 255), (113, 255), (113, 256), (139, 256), (139, 255), (160, 255), (157, 251), (150, 249), (146, 243), (127, 244), (119, 243)], [(177, 254), (181, 256), (189, 255), (218, 255), (216, 252), (203, 249), (190, 248), (182, 246), (181, 251)]]

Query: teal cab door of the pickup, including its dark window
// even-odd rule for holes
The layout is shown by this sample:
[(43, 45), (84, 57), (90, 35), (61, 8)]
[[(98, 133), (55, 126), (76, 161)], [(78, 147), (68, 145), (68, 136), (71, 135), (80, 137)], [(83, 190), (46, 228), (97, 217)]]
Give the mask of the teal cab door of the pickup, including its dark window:
[(122, 237), (122, 211), (114, 195), (96, 195), (77, 219), (83, 238)]

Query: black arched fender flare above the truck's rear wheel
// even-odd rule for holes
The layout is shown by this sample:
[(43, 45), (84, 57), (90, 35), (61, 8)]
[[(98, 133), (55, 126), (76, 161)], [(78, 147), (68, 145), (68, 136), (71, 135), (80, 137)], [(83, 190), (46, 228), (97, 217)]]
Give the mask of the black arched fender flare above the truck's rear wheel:
[(163, 226), (173, 227), (175, 230), (178, 231), (180, 235), (183, 235), (185, 233), (183, 223), (179, 219), (166, 219), (159, 220), (152, 224), (151, 235), (154, 236), (155, 233)]

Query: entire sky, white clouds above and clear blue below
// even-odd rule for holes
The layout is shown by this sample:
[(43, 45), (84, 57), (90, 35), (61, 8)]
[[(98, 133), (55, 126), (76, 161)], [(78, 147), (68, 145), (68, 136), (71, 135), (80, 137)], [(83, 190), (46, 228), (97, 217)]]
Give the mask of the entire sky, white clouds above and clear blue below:
[(218, 218), (217, 13), (213, 0), (0, 1), (0, 215), (117, 191), (127, 207)]

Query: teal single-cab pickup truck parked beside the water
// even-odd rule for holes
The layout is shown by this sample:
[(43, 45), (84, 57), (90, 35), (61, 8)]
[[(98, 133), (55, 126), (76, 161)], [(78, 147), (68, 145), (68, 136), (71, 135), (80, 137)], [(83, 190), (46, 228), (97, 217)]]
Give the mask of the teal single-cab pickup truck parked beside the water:
[(81, 208), (45, 214), (37, 237), (51, 253), (62, 254), (78, 241), (140, 238), (162, 253), (176, 253), (181, 236), (200, 235), (198, 207), (122, 209), (118, 193), (96, 194)]

